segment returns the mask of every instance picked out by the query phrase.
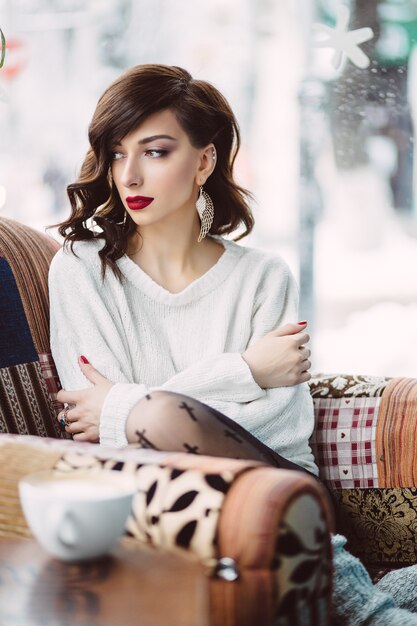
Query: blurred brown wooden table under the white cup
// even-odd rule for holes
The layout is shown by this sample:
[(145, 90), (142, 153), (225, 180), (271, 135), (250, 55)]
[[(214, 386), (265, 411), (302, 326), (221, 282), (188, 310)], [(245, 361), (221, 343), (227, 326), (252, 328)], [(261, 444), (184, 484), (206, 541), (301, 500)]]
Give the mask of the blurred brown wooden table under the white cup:
[(208, 626), (208, 579), (187, 555), (123, 539), (83, 563), (0, 539), (1, 626)]

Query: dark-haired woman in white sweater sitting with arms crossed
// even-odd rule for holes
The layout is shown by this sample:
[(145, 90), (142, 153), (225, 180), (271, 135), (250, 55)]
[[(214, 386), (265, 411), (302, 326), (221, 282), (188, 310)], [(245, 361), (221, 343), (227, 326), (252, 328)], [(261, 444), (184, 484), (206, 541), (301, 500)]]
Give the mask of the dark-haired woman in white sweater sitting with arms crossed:
[[(89, 139), (50, 271), (66, 432), (316, 475), (294, 279), (279, 257), (224, 238), (253, 227), (233, 179), (239, 130), (224, 97), (181, 68), (137, 66), (100, 98)], [(417, 623), (373, 590), (343, 542), (336, 537), (343, 623), (389, 614)], [(352, 609), (355, 580), (370, 600)]]

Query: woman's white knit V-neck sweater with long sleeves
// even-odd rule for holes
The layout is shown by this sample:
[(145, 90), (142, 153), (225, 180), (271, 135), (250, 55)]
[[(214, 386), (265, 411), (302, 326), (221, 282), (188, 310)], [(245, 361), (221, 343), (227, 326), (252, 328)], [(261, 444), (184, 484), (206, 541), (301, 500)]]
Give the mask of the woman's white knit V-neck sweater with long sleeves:
[(297, 318), (298, 291), (285, 262), (218, 237), (218, 262), (179, 293), (154, 282), (128, 256), (108, 269), (102, 240), (60, 250), (49, 274), (51, 349), (64, 389), (91, 386), (85, 355), (111, 382), (100, 443), (123, 446), (126, 418), (149, 390), (187, 394), (236, 420), (283, 457), (317, 473), (308, 445), (313, 405), (307, 384), (261, 389), (241, 354)]

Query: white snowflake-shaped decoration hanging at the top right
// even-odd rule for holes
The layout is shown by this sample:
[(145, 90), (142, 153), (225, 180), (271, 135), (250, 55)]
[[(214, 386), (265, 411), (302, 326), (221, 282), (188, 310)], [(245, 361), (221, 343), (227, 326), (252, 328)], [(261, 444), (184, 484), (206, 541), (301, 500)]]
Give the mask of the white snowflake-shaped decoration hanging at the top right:
[(369, 57), (359, 48), (360, 43), (369, 41), (374, 36), (372, 28), (358, 28), (348, 31), (350, 12), (347, 7), (340, 5), (337, 7), (336, 27), (330, 28), (324, 24), (313, 24), (316, 32), (328, 35), (327, 39), (316, 40), (313, 46), (316, 48), (333, 48), (333, 67), (339, 69), (345, 58), (348, 58), (354, 65), (365, 69), (369, 67)]

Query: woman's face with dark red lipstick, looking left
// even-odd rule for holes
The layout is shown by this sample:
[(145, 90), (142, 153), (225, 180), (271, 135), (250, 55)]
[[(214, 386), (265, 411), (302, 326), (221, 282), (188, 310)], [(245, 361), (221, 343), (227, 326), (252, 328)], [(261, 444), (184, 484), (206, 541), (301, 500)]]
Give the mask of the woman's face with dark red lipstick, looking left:
[(113, 181), (141, 232), (156, 224), (197, 219), (198, 186), (214, 168), (212, 145), (194, 148), (167, 109), (148, 117), (113, 146)]

